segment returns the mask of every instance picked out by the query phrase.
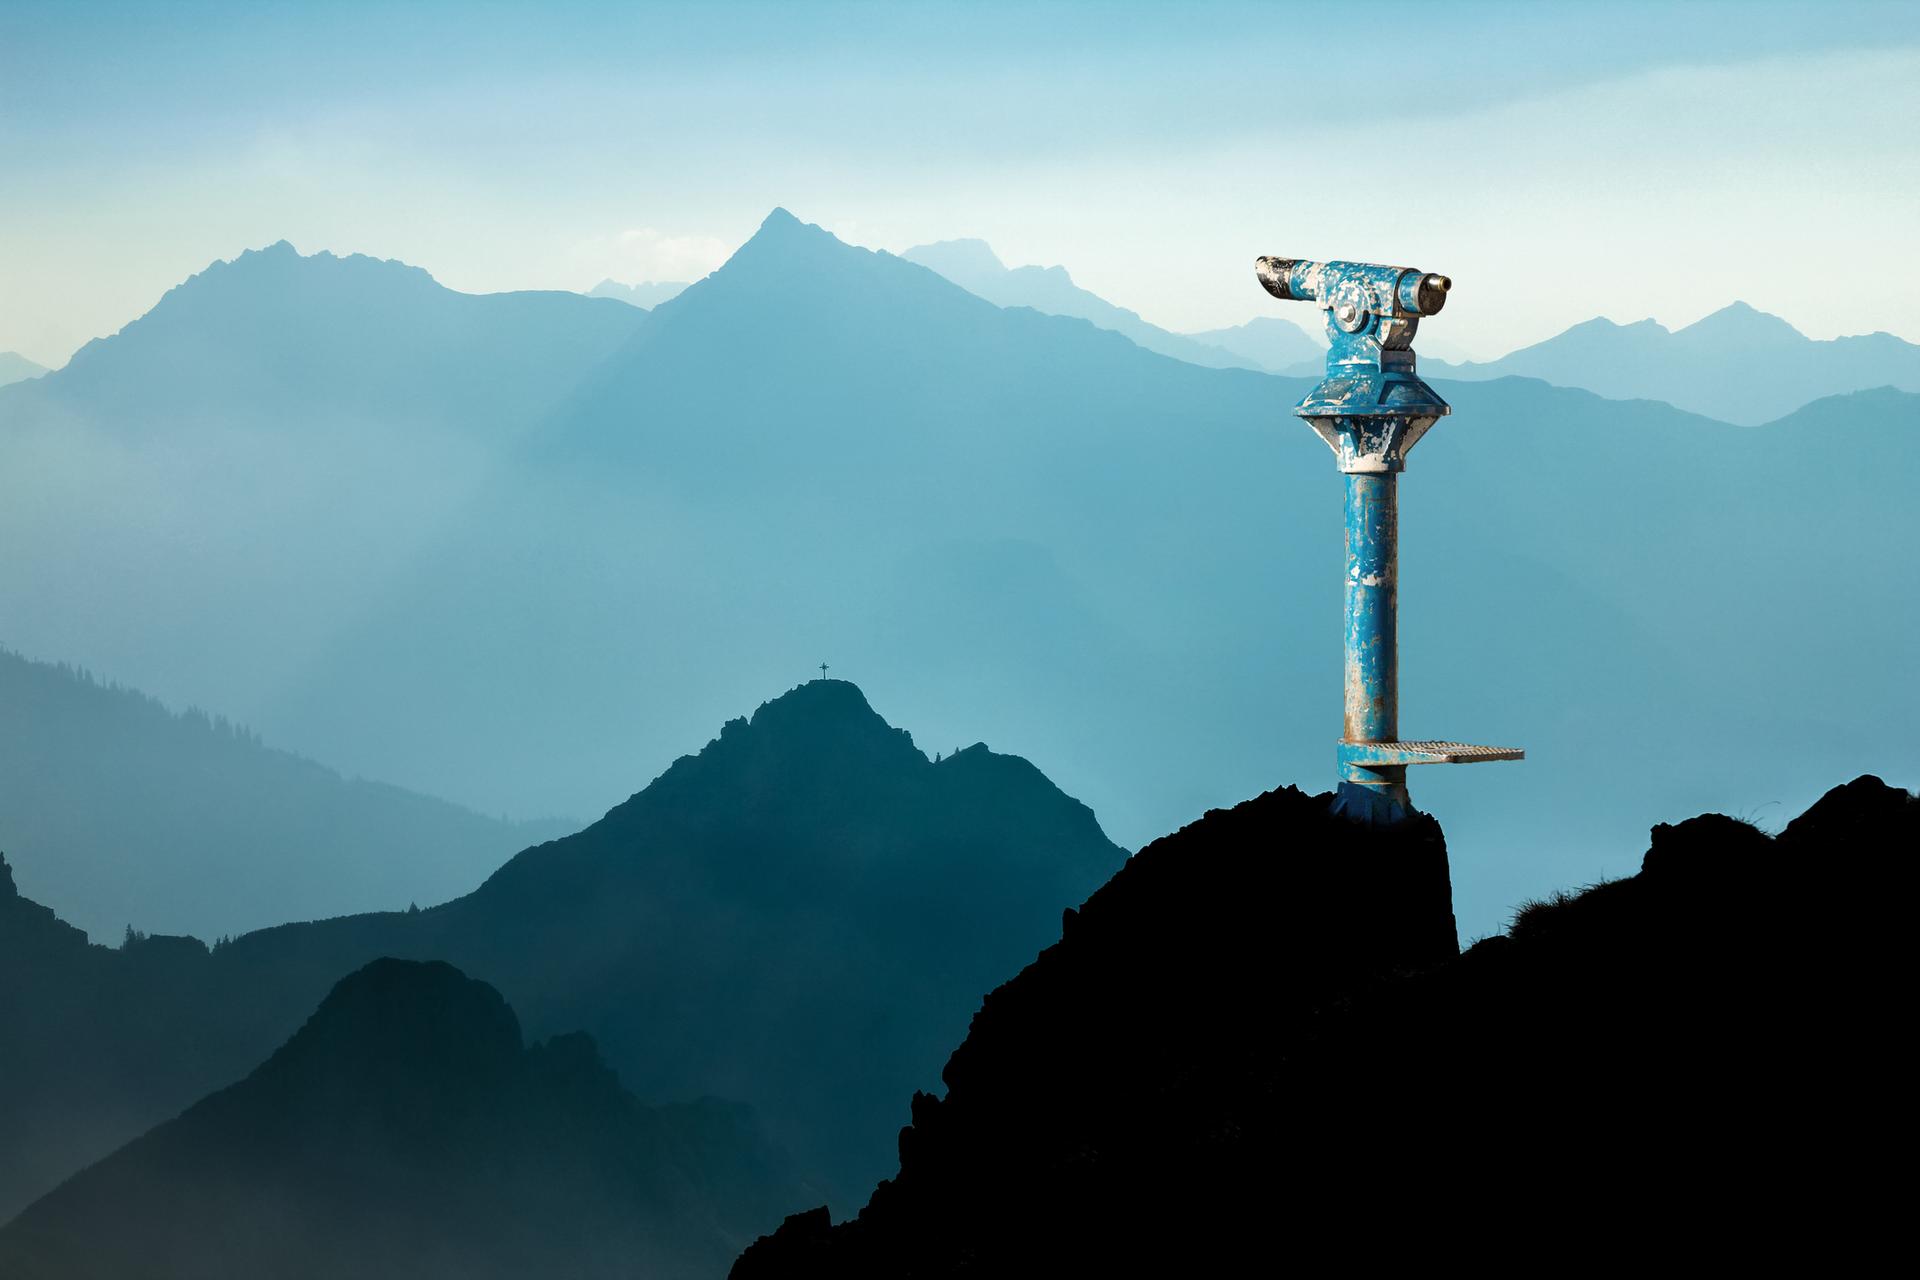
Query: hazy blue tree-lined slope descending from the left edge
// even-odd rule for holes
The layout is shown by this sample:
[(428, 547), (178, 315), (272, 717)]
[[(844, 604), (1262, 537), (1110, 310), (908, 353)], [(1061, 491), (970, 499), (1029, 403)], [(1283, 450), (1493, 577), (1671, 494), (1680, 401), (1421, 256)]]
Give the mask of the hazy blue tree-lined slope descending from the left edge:
[(432, 906), (572, 829), (346, 779), (225, 720), (6, 651), (0, 725), (0, 848), (31, 896), (100, 940)]

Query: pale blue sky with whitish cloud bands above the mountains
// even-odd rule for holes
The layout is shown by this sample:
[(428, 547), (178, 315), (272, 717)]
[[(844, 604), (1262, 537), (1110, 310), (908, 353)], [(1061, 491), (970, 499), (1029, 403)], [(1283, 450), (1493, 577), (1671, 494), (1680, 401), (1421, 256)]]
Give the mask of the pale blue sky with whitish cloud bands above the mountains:
[(1169, 328), (1256, 253), (1457, 282), (1423, 349), (1732, 297), (1920, 338), (1920, 6), (0, 2), (0, 349), (280, 238), (461, 290), (693, 276), (774, 205)]

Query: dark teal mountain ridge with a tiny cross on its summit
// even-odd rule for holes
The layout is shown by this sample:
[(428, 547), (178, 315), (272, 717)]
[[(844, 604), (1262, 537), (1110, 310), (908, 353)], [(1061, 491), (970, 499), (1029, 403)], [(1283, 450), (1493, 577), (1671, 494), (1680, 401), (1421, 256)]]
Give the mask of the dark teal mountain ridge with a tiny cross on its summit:
[(755, 1105), (856, 1203), (979, 992), (1123, 858), (1025, 760), (929, 760), (822, 679), (430, 910), (108, 950), (6, 879), (0, 1221), (234, 1080), (380, 956), (459, 965), (536, 1036), (588, 1031), (645, 1100)]

